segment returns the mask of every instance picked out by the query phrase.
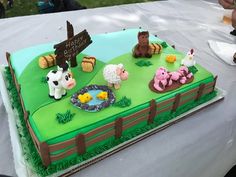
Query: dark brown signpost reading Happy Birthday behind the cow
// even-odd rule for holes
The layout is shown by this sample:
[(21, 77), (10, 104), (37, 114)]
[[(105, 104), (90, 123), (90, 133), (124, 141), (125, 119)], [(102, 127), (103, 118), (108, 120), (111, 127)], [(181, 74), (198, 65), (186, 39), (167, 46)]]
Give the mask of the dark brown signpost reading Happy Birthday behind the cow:
[(56, 64), (63, 66), (66, 61), (70, 61), (71, 67), (76, 67), (76, 55), (83, 51), (92, 43), (91, 37), (86, 30), (74, 35), (74, 28), (67, 21), (67, 37), (68, 39), (54, 45), (56, 56)]

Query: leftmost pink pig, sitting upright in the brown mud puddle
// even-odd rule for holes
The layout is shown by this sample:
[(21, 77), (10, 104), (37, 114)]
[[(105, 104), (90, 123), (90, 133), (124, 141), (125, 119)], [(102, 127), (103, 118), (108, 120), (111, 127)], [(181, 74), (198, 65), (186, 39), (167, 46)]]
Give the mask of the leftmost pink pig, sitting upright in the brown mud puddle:
[(163, 91), (166, 86), (172, 85), (172, 80), (170, 79), (170, 75), (167, 72), (167, 69), (164, 67), (160, 67), (156, 71), (156, 75), (154, 78), (154, 88), (158, 91)]

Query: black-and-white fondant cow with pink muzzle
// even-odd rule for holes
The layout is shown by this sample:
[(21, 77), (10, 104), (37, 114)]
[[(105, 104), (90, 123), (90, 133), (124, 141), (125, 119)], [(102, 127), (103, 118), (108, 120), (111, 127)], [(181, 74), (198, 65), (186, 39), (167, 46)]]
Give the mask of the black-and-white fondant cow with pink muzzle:
[(66, 90), (72, 89), (75, 85), (75, 79), (72, 78), (71, 72), (66, 68), (58, 67), (58, 70), (51, 70), (47, 74), (47, 83), (49, 87), (49, 96), (55, 100), (60, 100), (66, 95)]

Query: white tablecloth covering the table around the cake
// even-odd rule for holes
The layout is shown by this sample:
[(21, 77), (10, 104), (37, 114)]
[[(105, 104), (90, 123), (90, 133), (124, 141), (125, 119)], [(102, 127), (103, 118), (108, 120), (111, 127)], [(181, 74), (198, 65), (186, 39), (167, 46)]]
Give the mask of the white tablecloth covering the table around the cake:
[[(93, 177), (223, 177), (236, 162), (236, 68), (219, 60), (207, 40), (235, 43), (230, 26), (221, 23), (217, 0), (170, 0), (0, 20), (0, 61), (5, 52), (64, 40), (66, 20), (75, 32), (90, 34), (123, 28), (149, 30), (180, 51), (196, 50), (197, 62), (218, 75), (228, 92), (212, 105), (87, 169)], [(15, 176), (7, 113), (0, 96), (0, 174)], [(75, 175), (76, 176), (76, 175)]]

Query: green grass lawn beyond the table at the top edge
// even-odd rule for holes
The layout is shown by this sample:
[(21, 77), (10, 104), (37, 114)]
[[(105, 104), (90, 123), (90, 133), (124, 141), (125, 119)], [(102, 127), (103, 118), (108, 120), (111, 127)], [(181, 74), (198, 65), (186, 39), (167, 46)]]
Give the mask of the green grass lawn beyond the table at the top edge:
[[(120, 4), (148, 2), (148, 1), (155, 1), (155, 0), (112, 0), (112, 1), (111, 0), (96, 0), (96, 1), (77, 0), (77, 1), (79, 1), (81, 5), (86, 6), (87, 8), (96, 8), (96, 7), (113, 6), (113, 5), (120, 5)], [(6, 10), (6, 17), (38, 14), (39, 12), (37, 8), (37, 2), (38, 0), (14, 0), (14, 7)]]

